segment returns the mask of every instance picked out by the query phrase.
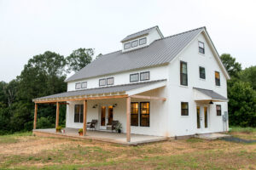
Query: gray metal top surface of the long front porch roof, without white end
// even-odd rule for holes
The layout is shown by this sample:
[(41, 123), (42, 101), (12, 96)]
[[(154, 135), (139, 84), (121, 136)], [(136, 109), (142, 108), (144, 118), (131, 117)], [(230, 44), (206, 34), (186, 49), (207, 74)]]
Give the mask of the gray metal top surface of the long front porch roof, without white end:
[(150, 82), (129, 83), (129, 84), (123, 84), (123, 85), (117, 85), (117, 86), (109, 86), (105, 88), (90, 88), (85, 90), (69, 91), (61, 94), (44, 96), (44, 97), (33, 99), (33, 100), (67, 98), (67, 97), (73, 97), (73, 96), (79, 96), (79, 95), (90, 95), (90, 94), (108, 94), (108, 93), (126, 92), (132, 89), (143, 88), (145, 86), (148, 86), (157, 82), (164, 82), (164, 81), (166, 81), (166, 79), (150, 81)]

